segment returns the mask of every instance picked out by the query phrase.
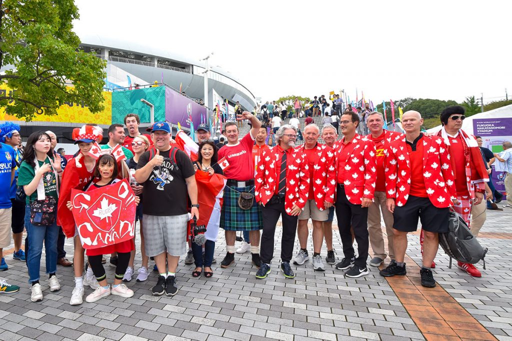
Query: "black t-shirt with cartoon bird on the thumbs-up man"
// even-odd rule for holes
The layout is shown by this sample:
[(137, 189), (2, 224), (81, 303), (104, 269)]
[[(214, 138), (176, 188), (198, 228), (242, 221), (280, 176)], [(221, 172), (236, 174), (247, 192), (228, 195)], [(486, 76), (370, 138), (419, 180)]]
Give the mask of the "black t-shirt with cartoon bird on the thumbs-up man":
[[(170, 160), (170, 151), (161, 151), (163, 164), (151, 171), (150, 177), (142, 185), (144, 198), (142, 213), (156, 216), (174, 216), (187, 213), (188, 191), (185, 179), (195, 174), (194, 166), (185, 152), (176, 151), (176, 164)], [(144, 167), (150, 157), (146, 151), (139, 158), (137, 169)]]

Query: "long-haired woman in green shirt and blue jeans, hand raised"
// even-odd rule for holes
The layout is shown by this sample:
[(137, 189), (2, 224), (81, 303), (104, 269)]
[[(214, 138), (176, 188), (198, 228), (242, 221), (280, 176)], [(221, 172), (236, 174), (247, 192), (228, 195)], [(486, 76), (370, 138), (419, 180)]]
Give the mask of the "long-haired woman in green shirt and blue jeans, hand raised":
[[(45, 242), (46, 273), (50, 275), (48, 284), (50, 291), (60, 290), (55, 276), (57, 270), (57, 238), (59, 229), (56, 219), (49, 225), (34, 225), (31, 220), (31, 203), (35, 200), (58, 200), (58, 179), (62, 176), (60, 155), (53, 156), (50, 135), (36, 131), (30, 134), (23, 154), (23, 162), (19, 166), (18, 186), (23, 186), (27, 194), (25, 208), (25, 228), (29, 247), (27, 249), (27, 268), (29, 282), (32, 283), (30, 300), (42, 300), (42, 289), (39, 284), (42, 242)], [(56, 209), (56, 208), (55, 208)]]

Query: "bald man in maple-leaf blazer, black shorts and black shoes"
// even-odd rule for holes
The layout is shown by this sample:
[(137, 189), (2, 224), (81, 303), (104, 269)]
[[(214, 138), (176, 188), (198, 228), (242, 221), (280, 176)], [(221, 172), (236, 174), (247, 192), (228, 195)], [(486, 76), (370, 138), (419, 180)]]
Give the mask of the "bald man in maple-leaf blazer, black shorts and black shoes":
[(387, 206), (394, 218), (396, 261), (381, 270), (380, 275), (406, 275), (403, 259), (407, 233), (416, 231), (419, 218), (425, 237), (421, 285), (434, 287), (431, 265), (439, 247), (438, 234), (448, 231), (449, 208), (458, 201), (446, 145), (441, 138), (424, 136), (420, 132), (422, 124), (419, 112), (405, 112), (404, 138), (392, 141), (385, 151)]

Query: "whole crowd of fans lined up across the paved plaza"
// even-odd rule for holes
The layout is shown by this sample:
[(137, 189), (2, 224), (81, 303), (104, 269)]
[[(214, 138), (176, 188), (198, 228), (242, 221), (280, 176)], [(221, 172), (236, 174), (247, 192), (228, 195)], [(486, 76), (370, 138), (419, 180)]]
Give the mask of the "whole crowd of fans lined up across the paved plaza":
[[(325, 98), (315, 97), (307, 106), (306, 115), (325, 115), (325, 102)], [(168, 123), (157, 122), (148, 129), (148, 134), (143, 134), (136, 114), (128, 114), (124, 126), (109, 127), (109, 141), (101, 146), (99, 157), (94, 157), (93, 149), (103, 138), (102, 129), (95, 124), (76, 128), (73, 139), (79, 151), (70, 160), (54, 151), (57, 141), (51, 131), (30, 134), (22, 152), (20, 127), (6, 123), (0, 126), (1, 148), (5, 151), (0, 153), (0, 270), (8, 269), (2, 248), (10, 245), (12, 232), (13, 259), (26, 261), (31, 300), (41, 301), (42, 247), (45, 246), (50, 291), (58, 291), (61, 285), (57, 264), (72, 264), (63, 249), (67, 237), (74, 239), (75, 288), (71, 305), (83, 302), (84, 286), (94, 289), (87, 295), (87, 302), (110, 294), (132, 297), (134, 292), (125, 283), (132, 280), (135, 272), (136, 248), (140, 248), (142, 255), (136, 280), (148, 279), (148, 263), (153, 259), (158, 277), (151, 287), (152, 294), (173, 296), (179, 290), (176, 272), (180, 257), (185, 254), (185, 263), (195, 264), (192, 277), (214, 276), (212, 263), (216, 262), (219, 226), (224, 230), (226, 243), (220, 266), (235, 266), (235, 254), (249, 251), (255, 277), (266, 278), (271, 271), (275, 230), (281, 219), (280, 270), (286, 278), (294, 278), (290, 263), (301, 266), (310, 259), (307, 241), (311, 219), (313, 270), (326, 269), (321, 257), (325, 247), (325, 262), (345, 271), (348, 278), (368, 275), (368, 265), (378, 267), (388, 257), (390, 262), (379, 274), (403, 276), (407, 274), (407, 234), (416, 231), (420, 221), (421, 284), (434, 287), (432, 268), (438, 234), (447, 232), (450, 210), (459, 214), (478, 237), (485, 202), (496, 198), (487, 185), (489, 160), (479, 149), (481, 141), (461, 129), (464, 109), (450, 106), (443, 110), (442, 129), (434, 135), (421, 131), (423, 119), (419, 112), (407, 111), (402, 117), (402, 134), (384, 129), (385, 120), (379, 112), (368, 107), (361, 114), (345, 110), (339, 96), (334, 103), (334, 110), (329, 113), (339, 116), (337, 125), (325, 122), (318, 127), (310, 123), (300, 133), (298, 120), (290, 120), (290, 124), (280, 122), (279, 126), (272, 126), (273, 147), (265, 143), (268, 119), (260, 117), (261, 112), (253, 115), (237, 110), (236, 120), (250, 122), (250, 131), (240, 136), (238, 123), (227, 121), (223, 127), (226, 141), (219, 144), (211, 140), (208, 125), (202, 124), (196, 131), (198, 158), (194, 162), (175, 144)], [(301, 115), (303, 107), (296, 99), (292, 120)], [(282, 119), (287, 112), (275, 103), (266, 104), (265, 110), (272, 112), (272, 122), (276, 117)], [(296, 146), (297, 138), (303, 138), (305, 143)], [(323, 144), (318, 142), (320, 138)], [(510, 147), (509, 142), (504, 143), (505, 149)], [(124, 157), (118, 158), (121, 152)], [(510, 164), (509, 155), (492, 156)], [(507, 173), (508, 181), (510, 176)], [(199, 177), (225, 179), (220, 215), (216, 221), (210, 218), (204, 226), (207, 237), (202, 246), (192, 241), (195, 228), (189, 228), (189, 222), (192, 218), (200, 219), (201, 196), (212, 194), (198, 193)], [(72, 214), (72, 190), (102, 190), (122, 179), (129, 180), (137, 196), (135, 219), (140, 225), (141, 244), (135, 245), (134, 237), (84, 249)], [(343, 245), (339, 262), (332, 242), (334, 214)], [(479, 219), (472, 220), (472, 216)], [(244, 235), (244, 244), (239, 249), (235, 246), (237, 232)], [(296, 234), (300, 249), (294, 256)], [(370, 247), (373, 258), (368, 262)], [(115, 265), (112, 284), (102, 265), (108, 255)], [(458, 262), (458, 267), (471, 276), (481, 277), (473, 264)], [(2, 292), (19, 289), (5, 280), (0, 284)]]

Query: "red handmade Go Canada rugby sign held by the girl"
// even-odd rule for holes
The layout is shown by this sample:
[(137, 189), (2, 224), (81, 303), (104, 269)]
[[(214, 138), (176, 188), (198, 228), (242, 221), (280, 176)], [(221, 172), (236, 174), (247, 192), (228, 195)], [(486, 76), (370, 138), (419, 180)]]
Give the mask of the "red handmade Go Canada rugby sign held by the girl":
[(117, 244), (135, 236), (135, 193), (127, 179), (83, 192), (71, 190), (73, 217), (84, 249)]

